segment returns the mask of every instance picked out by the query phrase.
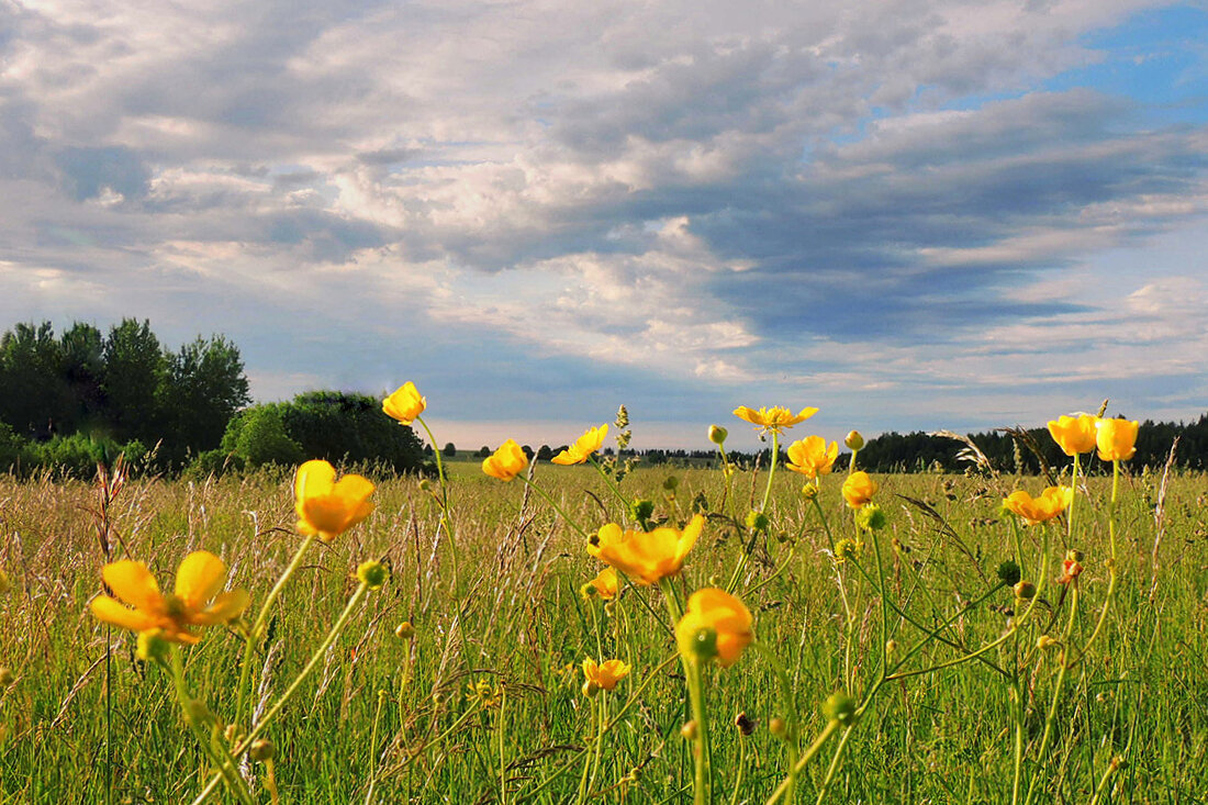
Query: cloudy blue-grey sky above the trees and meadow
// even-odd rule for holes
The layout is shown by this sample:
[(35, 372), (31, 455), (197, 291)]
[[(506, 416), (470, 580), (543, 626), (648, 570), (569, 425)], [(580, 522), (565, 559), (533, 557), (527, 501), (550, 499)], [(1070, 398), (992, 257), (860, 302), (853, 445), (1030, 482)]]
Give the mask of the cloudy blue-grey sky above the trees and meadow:
[(1190, 418), (1206, 42), (1203, 1), (0, 0), (0, 326), (412, 380), (466, 447)]

